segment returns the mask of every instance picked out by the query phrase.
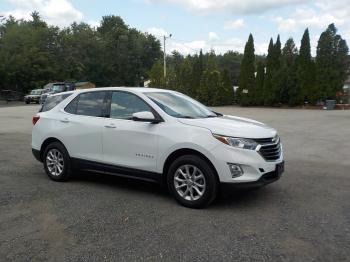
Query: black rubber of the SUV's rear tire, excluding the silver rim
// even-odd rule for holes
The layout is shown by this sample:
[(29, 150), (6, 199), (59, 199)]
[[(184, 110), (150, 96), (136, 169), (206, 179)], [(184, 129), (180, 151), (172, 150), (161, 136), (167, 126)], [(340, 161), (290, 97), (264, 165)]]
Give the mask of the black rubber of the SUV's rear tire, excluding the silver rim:
[[(48, 154), (49, 152), (56, 152), (57, 150), (63, 159), (63, 169), (62, 172), (59, 174), (53, 175), (52, 172), (50, 172), (50, 167), (48, 166)], [(44, 169), (48, 177), (54, 181), (62, 182), (62, 181), (67, 181), (71, 177), (71, 165), (70, 165), (70, 157), (67, 152), (67, 149), (59, 142), (53, 142), (49, 144), (43, 154), (43, 164), (44, 164)], [(62, 162), (61, 162), (62, 164)]]

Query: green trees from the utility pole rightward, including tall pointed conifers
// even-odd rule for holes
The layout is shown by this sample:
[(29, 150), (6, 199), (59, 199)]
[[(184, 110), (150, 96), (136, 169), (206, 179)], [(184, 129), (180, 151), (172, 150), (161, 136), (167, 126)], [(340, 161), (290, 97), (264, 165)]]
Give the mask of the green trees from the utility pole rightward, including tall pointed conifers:
[[(186, 93), (210, 105), (297, 106), (334, 99), (342, 91), (349, 74), (348, 46), (334, 24), (321, 34), (316, 57), (311, 55), (309, 30), (297, 49), (293, 38), (282, 47), (280, 37), (271, 38), (266, 56), (255, 55), (250, 34), (244, 54), (214, 51), (167, 57), (168, 74), (163, 76), (162, 61), (150, 70), (150, 86)], [(235, 94), (233, 86), (238, 86)]]

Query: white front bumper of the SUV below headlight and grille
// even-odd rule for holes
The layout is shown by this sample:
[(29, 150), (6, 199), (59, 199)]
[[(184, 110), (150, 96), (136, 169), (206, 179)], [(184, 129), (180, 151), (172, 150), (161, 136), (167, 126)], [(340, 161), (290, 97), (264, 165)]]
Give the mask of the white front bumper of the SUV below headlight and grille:
[[(276, 161), (266, 161), (257, 151), (238, 149), (227, 145), (219, 145), (211, 151), (214, 156), (213, 164), (219, 175), (221, 183), (244, 184), (255, 183), (264, 185), (276, 181), (283, 170), (277, 170), (278, 167), (284, 166), (283, 148), (281, 145), (281, 154)], [(233, 177), (228, 164), (239, 165), (243, 174)], [(278, 172), (278, 178), (272, 178), (274, 172)], [(270, 182), (271, 180), (271, 182)]]

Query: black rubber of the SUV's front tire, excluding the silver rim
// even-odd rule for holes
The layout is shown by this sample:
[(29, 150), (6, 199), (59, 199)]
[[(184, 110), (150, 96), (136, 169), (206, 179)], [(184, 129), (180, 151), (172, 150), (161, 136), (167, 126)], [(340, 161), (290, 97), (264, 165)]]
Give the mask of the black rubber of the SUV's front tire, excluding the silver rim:
[[(205, 190), (196, 200), (187, 200), (175, 188), (175, 176), (178, 169), (184, 166), (196, 167), (204, 176)], [(191, 171), (190, 171), (191, 172)], [(198, 171), (197, 171), (198, 172)], [(198, 174), (198, 173), (197, 173)], [(184, 155), (177, 158), (170, 166), (167, 174), (167, 184), (173, 197), (183, 206), (190, 208), (204, 208), (212, 203), (218, 194), (218, 179), (213, 168), (203, 158), (196, 155)], [(185, 186), (185, 187), (188, 187)], [(192, 189), (193, 190), (193, 189)], [(199, 196), (199, 195), (198, 195)]]

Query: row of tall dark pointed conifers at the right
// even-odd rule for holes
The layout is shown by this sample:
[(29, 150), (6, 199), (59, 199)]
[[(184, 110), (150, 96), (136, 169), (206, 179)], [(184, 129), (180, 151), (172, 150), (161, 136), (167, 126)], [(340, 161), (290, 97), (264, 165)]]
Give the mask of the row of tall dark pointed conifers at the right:
[(237, 98), (242, 105), (290, 106), (317, 104), (335, 99), (349, 73), (348, 46), (334, 24), (322, 32), (316, 57), (311, 55), (309, 30), (301, 39), (300, 50), (289, 38), (281, 47), (280, 37), (270, 40), (264, 61), (256, 61), (254, 39), (245, 45)]

